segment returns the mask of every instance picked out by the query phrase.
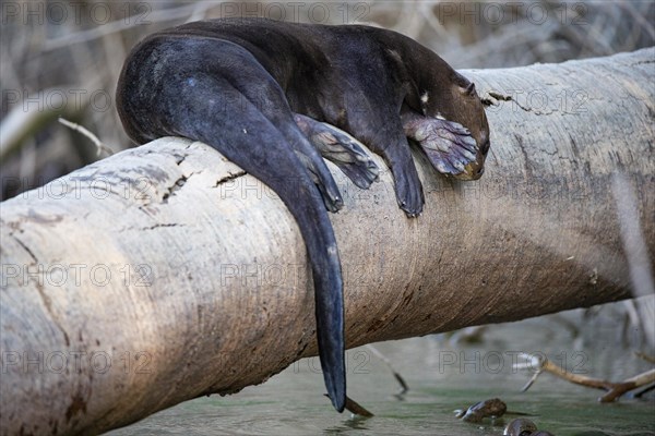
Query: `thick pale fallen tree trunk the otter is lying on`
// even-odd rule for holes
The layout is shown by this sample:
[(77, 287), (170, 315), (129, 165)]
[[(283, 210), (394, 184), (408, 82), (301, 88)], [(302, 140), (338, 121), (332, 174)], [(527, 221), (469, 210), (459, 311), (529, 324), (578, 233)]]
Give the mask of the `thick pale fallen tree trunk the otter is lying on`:
[[(348, 347), (630, 298), (620, 229), (646, 269), (655, 249), (654, 57), (464, 72), (493, 104), (487, 172), (446, 180), (417, 156), (417, 219), (389, 171), (369, 191), (333, 171)], [(1, 234), (2, 434), (107, 431), (317, 353), (291, 216), (203, 144), (162, 138), (7, 201)]]

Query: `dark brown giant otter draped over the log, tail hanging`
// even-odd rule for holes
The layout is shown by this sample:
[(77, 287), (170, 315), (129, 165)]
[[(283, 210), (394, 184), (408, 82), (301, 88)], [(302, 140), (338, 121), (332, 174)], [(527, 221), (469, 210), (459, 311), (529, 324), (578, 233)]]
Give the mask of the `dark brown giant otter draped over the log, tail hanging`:
[(483, 173), (489, 128), (473, 83), (395, 32), (224, 19), (146, 37), (124, 63), (117, 104), (135, 142), (206, 143), (288, 207), (312, 267), (323, 377), (342, 412), (343, 282), (325, 208), (336, 211), (343, 199), (321, 156), (367, 187), (378, 169), (364, 143), (390, 166), (400, 207), (416, 216), (424, 194), (407, 137), (444, 174)]

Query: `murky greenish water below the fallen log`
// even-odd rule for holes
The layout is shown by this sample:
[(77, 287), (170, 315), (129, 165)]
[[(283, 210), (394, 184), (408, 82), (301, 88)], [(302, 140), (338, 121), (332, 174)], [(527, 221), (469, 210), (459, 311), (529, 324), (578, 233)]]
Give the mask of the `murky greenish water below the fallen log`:
[[(579, 327), (581, 327), (579, 323)], [(110, 435), (502, 435), (499, 425), (456, 420), (453, 410), (499, 397), (510, 412), (527, 413), (539, 429), (567, 435), (654, 435), (655, 395), (599, 404), (599, 390), (543, 374), (525, 393), (531, 374), (512, 368), (517, 352), (541, 352), (551, 361), (588, 376), (618, 379), (653, 365), (623, 348), (619, 328), (595, 323), (572, 339), (550, 318), (493, 326), (480, 346), (449, 344), (443, 336), (377, 344), (405, 377), (398, 385), (389, 367), (367, 348), (348, 351), (348, 393), (376, 414), (336, 414), (323, 393), (318, 358), (303, 360), (261, 386), (231, 397), (212, 396), (162, 411)], [(586, 337), (586, 339), (585, 339)]]

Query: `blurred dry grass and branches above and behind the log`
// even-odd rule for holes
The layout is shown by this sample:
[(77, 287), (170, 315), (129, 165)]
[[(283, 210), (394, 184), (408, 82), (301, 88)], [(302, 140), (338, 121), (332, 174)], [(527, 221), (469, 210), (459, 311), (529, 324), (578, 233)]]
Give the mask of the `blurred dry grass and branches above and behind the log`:
[(235, 15), (383, 26), (419, 40), (457, 69), (607, 56), (655, 40), (653, 1), (3, 1), (0, 199), (99, 158), (95, 145), (59, 124), (58, 116), (115, 152), (133, 145), (114, 94), (122, 62), (142, 37)]

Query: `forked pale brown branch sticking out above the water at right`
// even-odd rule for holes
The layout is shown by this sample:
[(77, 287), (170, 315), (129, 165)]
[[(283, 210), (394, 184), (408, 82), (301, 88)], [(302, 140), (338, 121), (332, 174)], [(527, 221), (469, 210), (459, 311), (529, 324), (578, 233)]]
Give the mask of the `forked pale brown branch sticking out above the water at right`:
[[(533, 378), (525, 385), (522, 391), (527, 390), (536, 380), (539, 374), (543, 372), (548, 372), (553, 374), (560, 378), (563, 378), (568, 382), (571, 382), (576, 385), (586, 386), (595, 389), (606, 390), (603, 397), (598, 399), (600, 402), (611, 402), (621, 397), (623, 393), (629, 392), (630, 390), (636, 389), (638, 387), (650, 385), (655, 383), (655, 370), (646, 371), (645, 373), (641, 373), (635, 375), (634, 377), (630, 377), (624, 379), (623, 382), (608, 382), (602, 380), (597, 378), (586, 377), (580, 374), (573, 374), (565, 370), (562, 370), (555, 363), (550, 362), (546, 358), (539, 358), (534, 354), (522, 354), (524, 358), (532, 361), (533, 367), (537, 367), (537, 373), (533, 376)], [(516, 365), (517, 367), (524, 367), (524, 364)]]

